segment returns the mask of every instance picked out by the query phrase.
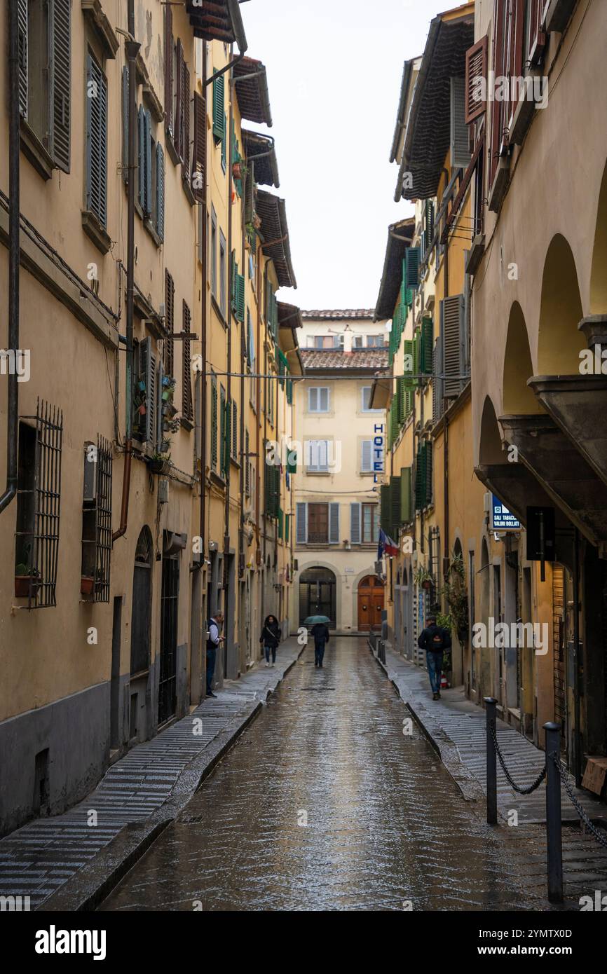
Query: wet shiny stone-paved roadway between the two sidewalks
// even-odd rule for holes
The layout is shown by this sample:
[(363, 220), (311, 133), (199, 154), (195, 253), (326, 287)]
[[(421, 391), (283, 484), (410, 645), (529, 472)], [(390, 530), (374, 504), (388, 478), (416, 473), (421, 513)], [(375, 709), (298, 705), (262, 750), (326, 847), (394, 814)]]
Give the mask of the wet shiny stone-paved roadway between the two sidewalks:
[(546, 909), (408, 716), (363, 639), (308, 648), (100, 909)]

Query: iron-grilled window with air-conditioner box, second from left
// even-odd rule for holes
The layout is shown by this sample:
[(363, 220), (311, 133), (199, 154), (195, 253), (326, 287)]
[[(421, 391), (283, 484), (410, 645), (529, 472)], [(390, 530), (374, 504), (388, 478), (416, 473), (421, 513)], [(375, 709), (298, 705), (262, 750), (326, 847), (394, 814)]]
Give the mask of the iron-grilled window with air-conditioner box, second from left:
[(112, 450), (102, 436), (84, 450), (82, 570), (80, 593), (91, 602), (109, 602), (112, 550)]

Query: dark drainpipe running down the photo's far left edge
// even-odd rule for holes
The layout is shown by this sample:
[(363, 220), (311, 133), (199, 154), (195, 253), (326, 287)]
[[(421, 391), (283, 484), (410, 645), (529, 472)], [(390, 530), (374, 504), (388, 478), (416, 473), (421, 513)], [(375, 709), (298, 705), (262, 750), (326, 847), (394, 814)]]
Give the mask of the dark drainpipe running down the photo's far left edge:
[[(19, 20), (17, 3), (9, 4), (9, 351), (19, 348)], [(17, 367), (9, 369), (7, 479), (0, 512), (17, 494), (19, 386)]]

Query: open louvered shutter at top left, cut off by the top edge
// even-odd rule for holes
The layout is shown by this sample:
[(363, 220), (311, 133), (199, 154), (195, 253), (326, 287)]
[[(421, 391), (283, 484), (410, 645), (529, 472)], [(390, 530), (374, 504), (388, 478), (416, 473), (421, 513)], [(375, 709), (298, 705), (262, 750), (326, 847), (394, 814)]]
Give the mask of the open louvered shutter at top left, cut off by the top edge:
[(71, 118), (70, 0), (51, 6), (51, 154), (58, 169), (69, 172)]

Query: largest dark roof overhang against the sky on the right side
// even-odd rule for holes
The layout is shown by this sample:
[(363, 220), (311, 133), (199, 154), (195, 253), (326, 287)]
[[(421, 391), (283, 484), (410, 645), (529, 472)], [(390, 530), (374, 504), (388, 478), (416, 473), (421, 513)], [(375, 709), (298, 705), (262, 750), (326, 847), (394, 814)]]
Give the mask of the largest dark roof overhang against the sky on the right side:
[[(430, 24), (406, 123), (397, 201), (436, 196), (451, 132), (450, 79), (464, 77), (465, 55), (474, 44), (474, 10), (470, 7), (460, 8), (461, 14), (439, 14)], [(404, 185), (405, 173), (412, 176), (410, 186)]]

